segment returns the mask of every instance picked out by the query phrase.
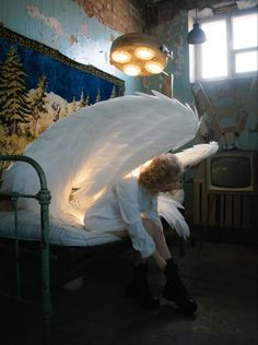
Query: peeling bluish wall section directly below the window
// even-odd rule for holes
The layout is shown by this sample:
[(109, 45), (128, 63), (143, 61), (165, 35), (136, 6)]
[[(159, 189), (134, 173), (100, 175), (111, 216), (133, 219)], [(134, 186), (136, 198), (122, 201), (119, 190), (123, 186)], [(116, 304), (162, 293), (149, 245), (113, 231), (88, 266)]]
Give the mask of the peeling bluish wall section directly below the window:
[[(223, 148), (258, 150), (257, 76), (203, 84), (214, 107), (207, 115), (208, 140)], [(220, 128), (212, 132), (214, 118)]]

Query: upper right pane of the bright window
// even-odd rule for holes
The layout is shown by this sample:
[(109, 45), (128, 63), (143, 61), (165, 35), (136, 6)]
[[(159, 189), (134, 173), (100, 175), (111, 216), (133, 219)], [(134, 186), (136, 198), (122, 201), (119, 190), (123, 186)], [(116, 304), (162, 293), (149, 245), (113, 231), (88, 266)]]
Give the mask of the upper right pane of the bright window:
[(232, 19), (233, 49), (257, 47), (257, 13)]

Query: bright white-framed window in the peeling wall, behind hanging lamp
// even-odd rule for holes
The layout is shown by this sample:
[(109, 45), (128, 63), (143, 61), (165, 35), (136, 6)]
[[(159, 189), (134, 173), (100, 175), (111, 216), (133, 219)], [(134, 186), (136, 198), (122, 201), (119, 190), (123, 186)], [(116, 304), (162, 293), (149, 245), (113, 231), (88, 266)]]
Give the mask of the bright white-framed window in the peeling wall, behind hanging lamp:
[(257, 73), (257, 12), (202, 20), (200, 27), (207, 41), (190, 48), (191, 82)]

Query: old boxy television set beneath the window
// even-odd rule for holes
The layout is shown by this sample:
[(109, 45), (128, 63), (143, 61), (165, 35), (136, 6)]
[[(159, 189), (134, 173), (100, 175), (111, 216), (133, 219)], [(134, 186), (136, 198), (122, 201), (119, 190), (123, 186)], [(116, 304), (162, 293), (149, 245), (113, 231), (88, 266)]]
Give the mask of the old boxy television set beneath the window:
[(222, 151), (207, 159), (207, 191), (258, 193), (258, 151)]

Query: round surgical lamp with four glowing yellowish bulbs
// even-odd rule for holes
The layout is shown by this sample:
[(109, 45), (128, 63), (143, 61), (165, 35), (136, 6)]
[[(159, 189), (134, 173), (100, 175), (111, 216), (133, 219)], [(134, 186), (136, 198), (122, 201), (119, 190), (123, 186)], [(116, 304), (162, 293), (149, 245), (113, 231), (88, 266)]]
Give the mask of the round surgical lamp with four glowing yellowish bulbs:
[(130, 33), (119, 36), (110, 48), (110, 63), (128, 75), (153, 75), (161, 73), (169, 57), (149, 35)]

